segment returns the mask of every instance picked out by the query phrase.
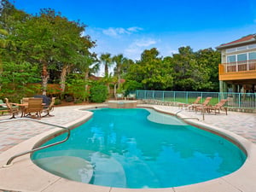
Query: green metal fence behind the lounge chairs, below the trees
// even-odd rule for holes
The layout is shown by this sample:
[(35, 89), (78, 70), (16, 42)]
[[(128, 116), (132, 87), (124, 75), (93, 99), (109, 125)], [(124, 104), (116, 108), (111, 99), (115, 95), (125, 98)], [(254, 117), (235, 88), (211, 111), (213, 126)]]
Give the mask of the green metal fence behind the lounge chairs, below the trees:
[(136, 96), (140, 100), (183, 103), (192, 103), (197, 96), (201, 96), (201, 102), (203, 102), (208, 96), (211, 96), (210, 104), (212, 105), (221, 99), (227, 99), (229, 108), (256, 108), (256, 93), (137, 90)]

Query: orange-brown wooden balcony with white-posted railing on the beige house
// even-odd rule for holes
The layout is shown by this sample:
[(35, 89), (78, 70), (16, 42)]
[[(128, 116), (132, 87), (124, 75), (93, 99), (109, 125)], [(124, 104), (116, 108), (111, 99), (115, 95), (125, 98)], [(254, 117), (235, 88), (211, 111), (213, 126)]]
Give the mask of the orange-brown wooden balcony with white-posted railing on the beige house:
[(218, 79), (223, 81), (256, 79), (256, 60), (221, 63)]

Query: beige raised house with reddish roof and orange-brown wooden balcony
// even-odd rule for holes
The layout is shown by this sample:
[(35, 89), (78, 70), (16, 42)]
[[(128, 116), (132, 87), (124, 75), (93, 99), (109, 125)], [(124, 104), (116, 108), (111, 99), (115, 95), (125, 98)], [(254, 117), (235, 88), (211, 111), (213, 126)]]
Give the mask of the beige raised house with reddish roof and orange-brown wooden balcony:
[(220, 92), (256, 92), (256, 34), (217, 47)]

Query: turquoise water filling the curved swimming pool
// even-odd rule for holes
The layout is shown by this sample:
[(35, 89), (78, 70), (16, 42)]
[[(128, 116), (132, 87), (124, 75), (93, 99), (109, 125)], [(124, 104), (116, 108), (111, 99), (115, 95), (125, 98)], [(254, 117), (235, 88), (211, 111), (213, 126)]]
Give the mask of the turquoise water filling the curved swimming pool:
[[(93, 117), (74, 129), (66, 143), (38, 151), (32, 160), (62, 177), (131, 189), (200, 183), (235, 172), (246, 160), (235, 144), (170, 115), (143, 108), (91, 111)], [(92, 177), (86, 168), (57, 172), (51, 171), (49, 162), (40, 161), (67, 156), (89, 162)], [(69, 160), (66, 165), (72, 164)], [(69, 177), (67, 172), (78, 176)]]

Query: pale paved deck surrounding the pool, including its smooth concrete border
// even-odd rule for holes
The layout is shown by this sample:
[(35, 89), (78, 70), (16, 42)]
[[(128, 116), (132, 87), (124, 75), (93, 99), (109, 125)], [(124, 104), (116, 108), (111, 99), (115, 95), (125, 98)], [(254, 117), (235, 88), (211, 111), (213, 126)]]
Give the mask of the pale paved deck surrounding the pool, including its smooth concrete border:
[[(104, 107), (107, 105), (86, 105), (55, 108), (52, 114), (55, 117), (42, 118), (40, 121), (55, 125), (70, 126), (90, 118), (90, 113), (79, 108)], [(139, 105), (140, 107), (153, 107), (165, 113), (177, 113), (177, 107)], [(38, 143), (43, 137), (60, 130), (49, 125), (41, 125), (25, 119), (4, 122), (0, 124), (0, 191), (90, 191), (90, 192), (254, 192), (256, 190), (256, 114), (228, 112), (220, 114), (207, 114), (182, 110), (179, 115), (200, 119), (199, 124), (218, 127), (220, 131), (230, 133), (248, 151), (246, 166), (238, 171), (218, 179), (204, 183), (197, 183), (182, 187), (168, 189), (117, 189), (101, 187), (86, 183), (78, 183), (45, 172), (35, 166), (30, 155), (14, 160), (13, 166), (3, 168), (6, 161), (14, 154), (26, 151)], [(9, 115), (0, 116), (0, 120), (9, 119)], [(191, 120), (192, 121), (192, 120)], [(193, 120), (197, 122), (197, 120)]]

